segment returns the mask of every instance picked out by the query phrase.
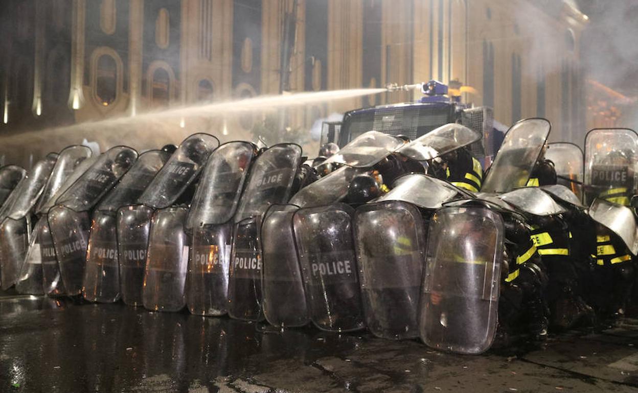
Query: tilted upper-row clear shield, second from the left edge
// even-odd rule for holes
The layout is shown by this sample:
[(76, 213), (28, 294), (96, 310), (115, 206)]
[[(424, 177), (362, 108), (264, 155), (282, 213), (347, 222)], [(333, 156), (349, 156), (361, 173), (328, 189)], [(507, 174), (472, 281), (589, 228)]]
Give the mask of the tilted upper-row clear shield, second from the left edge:
[(27, 176), (15, 187), (15, 199), (11, 204), (6, 204), (6, 211), (1, 215), (2, 218), (10, 217), (13, 220), (24, 218), (38, 201), (38, 197), (42, 193), (48, 176), (51, 175), (53, 167), (56, 165), (57, 157), (47, 155), (44, 159), (36, 162), (35, 166)]

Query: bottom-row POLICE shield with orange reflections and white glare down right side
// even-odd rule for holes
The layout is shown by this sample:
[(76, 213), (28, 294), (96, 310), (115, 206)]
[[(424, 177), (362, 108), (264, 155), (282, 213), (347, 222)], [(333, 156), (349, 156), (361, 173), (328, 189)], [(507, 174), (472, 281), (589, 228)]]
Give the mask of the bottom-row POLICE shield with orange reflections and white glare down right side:
[(191, 314), (226, 314), (231, 247), (231, 222), (193, 229), (186, 276), (186, 304)]

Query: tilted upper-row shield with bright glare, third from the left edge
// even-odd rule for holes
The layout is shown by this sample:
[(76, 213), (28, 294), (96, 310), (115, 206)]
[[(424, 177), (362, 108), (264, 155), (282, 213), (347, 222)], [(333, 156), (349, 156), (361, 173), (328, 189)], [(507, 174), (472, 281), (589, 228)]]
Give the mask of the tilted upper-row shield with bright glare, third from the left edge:
[(47, 184), (42, 191), (40, 201), (36, 205), (36, 214), (45, 214), (51, 206), (47, 205), (48, 201), (54, 203), (53, 196), (63, 187), (78, 165), (85, 162), (91, 157), (91, 149), (87, 146), (73, 145), (64, 148), (57, 156), (56, 166), (53, 167), (51, 175), (48, 177)]

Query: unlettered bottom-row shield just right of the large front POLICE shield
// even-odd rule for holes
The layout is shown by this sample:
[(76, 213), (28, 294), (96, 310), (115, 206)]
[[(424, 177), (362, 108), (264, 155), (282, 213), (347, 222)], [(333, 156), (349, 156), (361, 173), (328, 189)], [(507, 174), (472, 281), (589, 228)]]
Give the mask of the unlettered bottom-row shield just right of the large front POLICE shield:
[(359, 283), (366, 324), (375, 336), (419, 336), (419, 293), (424, 269), (424, 224), (403, 202), (364, 204), (354, 218)]

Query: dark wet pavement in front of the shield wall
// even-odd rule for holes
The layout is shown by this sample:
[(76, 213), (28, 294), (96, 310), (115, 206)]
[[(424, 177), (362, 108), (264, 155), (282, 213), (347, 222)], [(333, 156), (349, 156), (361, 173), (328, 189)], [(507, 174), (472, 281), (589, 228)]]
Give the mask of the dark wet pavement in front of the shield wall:
[(638, 320), (479, 356), (367, 332), (262, 330), (121, 303), (3, 296), (0, 392), (638, 392)]

